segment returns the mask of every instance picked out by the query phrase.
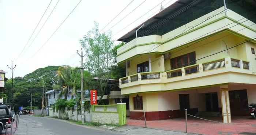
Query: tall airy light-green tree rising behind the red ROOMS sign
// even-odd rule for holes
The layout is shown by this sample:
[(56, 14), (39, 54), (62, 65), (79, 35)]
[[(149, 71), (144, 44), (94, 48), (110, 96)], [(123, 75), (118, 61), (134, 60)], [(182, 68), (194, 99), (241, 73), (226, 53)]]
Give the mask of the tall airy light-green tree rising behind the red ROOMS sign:
[(112, 54), (113, 40), (111, 39), (111, 32), (100, 33), (98, 23), (94, 22), (94, 28), (87, 32), (80, 39), (82, 47), (86, 50), (87, 61), (84, 66), (95, 76), (98, 80), (98, 95), (101, 103), (102, 97), (105, 94), (109, 78), (111, 78), (111, 66), (114, 63)]

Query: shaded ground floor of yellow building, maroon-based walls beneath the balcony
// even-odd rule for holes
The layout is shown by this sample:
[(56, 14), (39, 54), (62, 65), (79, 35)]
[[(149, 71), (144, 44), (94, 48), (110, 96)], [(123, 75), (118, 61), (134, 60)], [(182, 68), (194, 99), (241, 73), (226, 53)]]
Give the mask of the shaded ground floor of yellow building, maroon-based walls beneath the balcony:
[(173, 92), (129, 95), (130, 118), (141, 118), (144, 110), (147, 121), (174, 119), (184, 117), (184, 110), (188, 109), (191, 115), (218, 117), (223, 123), (231, 123), (233, 116), (249, 117), (248, 103), (256, 103), (255, 88), (253, 84), (229, 83)]

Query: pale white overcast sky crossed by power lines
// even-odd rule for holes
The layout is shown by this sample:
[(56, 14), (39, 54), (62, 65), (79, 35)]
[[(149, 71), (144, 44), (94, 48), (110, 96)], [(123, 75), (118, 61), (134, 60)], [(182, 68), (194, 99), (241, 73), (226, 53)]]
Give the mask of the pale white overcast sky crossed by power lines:
[[(49, 65), (80, 66), (80, 57), (76, 54), (76, 50), (81, 50), (79, 39), (94, 27), (94, 21), (99, 23), (101, 30), (132, 0), (82, 0), (49, 39), (80, 0), (59, 0), (56, 5), (57, 1), (52, 0), (50, 3), (50, 0), (0, 0), (0, 70), (8, 72), (7, 78), (11, 77), (11, 70), (7, 67), (11, 65), (11, 61), (13, 65), (17, 65), (14, 77), (24, 77)], [(112, 38), (116, 40), (158, 13), (161, 8), (158, 4), (162, 1), (163, 7), (168, 7), (177, 0), (143, 1), (145, 0), (133, 0), (102, 32), (112, 31)], [(49, 3), (49, 8), (31, 36)], [(141, 3), (143, 4), (121, 20)], [(55, 5), (56, 8), (35, 38)], [(158, 6), (154, 8), (156, 5)], [(146, 15), (132, 23), (146, 12)], [(121, 22), (114, 26), (120, 20)], [(132, 24), (126, 27), (130, 23)], [(114, 27), (111, 28), (112, 26)], [(120, 30), (121, 32), (117, 33)], [(114, 43), (117, 45), (118, 41)], [(23, 53), (19, 55), (23, 49)]]

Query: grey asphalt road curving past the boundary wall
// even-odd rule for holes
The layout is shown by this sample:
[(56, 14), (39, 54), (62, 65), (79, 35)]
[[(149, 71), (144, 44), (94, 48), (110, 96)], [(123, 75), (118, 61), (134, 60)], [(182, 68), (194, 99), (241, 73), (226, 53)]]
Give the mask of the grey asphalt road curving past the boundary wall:
[(86, 128), (48, 117), (20, 116), (15, 135), (120, 135), (104, 129)]

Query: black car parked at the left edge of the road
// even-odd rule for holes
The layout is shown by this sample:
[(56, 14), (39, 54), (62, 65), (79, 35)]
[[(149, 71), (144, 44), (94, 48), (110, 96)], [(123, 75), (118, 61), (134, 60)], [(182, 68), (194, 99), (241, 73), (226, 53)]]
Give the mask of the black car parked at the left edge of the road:
[(8, 127), (11, 127), (11, 112), (6, 105), (0, 105), (0, 132)]

